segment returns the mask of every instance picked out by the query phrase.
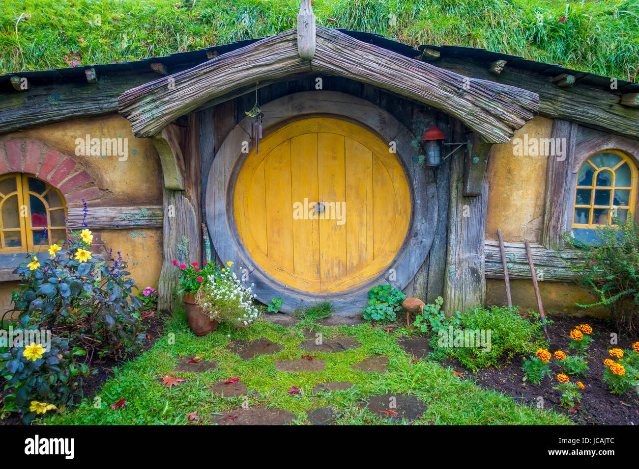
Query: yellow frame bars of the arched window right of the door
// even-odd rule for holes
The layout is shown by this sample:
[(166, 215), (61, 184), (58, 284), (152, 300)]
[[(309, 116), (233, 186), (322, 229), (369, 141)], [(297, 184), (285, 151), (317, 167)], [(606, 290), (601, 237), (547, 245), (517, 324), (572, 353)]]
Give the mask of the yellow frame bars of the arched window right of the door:
[[(594, 156), (597, 156), (597, 154), (601, 154), (601, 153), (611, 153), (611, 154), (616, 154), (617, 156), (619, 156), (621, 158), (621, 161), (619, 161), (619, 163), (617, 163), (614, 167), (597, 167), (596, 165), (594, 165), (594, 163), (592, 163), (592, 161), (590, 161), (592, 158), (594, 158)], [(622, 165), (624, 165), (624, 163), (627, 163), (628, 167), (630, 168), (630, 174), (631, 174), (631, 181), (630, 181), (630, 186), (623, 186), (623, 187), (615, 187), (615, 182), (616, 182), (616, 178), (617, 178), (617, 174), (615, 173), (615, 170), (617, 170), (619, 167), (621, 167)], [(635, 207), (636, 207), (636, 186), (637, 186), (637, 179), (638, 179), (638, 170), (635, 166), (635, 163), (633, 162), (633, 160), (631, 160), (631, 158), (629, 156), (627, 156), (627, 154), (618, 151), (618, 150), (614, 150), (614, 149), (610, 149), (610, 150), (603, 150), (603, 151), (598, 151), (597, 153), (594, 153), (592, 155), (589, 156), (589, 158), (587, 160), (585, 160), (581, 166), (579, 167), (579, 171), (581, 171), (581, 168), (583, 168), (583, 165), (590, 165), (590, 167), (594, 170), (594, 174), (592, 175), (592, 184), (590, 186), (579, 186), (576, 185), (575, 189), (574, 189), (574, 205), (573, 205), (573, 217), (572, 217), (572, 227), (573, 228), (597, 228), (597, 227), (601, 227), (604, 226), (602, 224), (599, 223), (593, 223), (593, 218), (594, 218), (594, 211), (596, 209), (608, 209), (608, 214), (606, 216), (606, 225), (612, 225), (612, 210), (613, 209), (624, 209), (632, 214), (633, 216), (635, 216)], [(597, 186), (597, 175), (602, 172), (602, 171), (609, 171), (612, 174), (612, 182), (610, 182), (610, 186)], [(577, 204), (577, 191), (580, 189), (589, 189), (590, 190), (590, 204), (589, 205), (584, 205), (584, 204)], [(630, 197), (628, 198), (628, 204), (627, 205), (615, 205), (615, 204), (610, 204), (610, 205), (595, 205), (594, 204), (594, 197), (595, 197), (595, 191), (596, 190), (610, 190), (611, 194), (610, 194), (610, 199), (611, 202), (613, 202), (613, 198), (614, 198), (614, 191), (615, 190), (627, 190), (630, 193)], [(574, 221), (574, 212), (575, 209), (589, 209), (588, 212), (588, 223), (575, 223)], [(616, 225), (612, 225), (612, 226), (616, 226)]]

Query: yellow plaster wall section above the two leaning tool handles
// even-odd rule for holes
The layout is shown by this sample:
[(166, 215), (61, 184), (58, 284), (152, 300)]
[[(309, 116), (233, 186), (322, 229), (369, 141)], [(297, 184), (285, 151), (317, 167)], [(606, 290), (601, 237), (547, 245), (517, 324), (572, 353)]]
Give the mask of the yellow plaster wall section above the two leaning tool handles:
[[(552, 119), (537, 116), (515, 132), (514, 138), (550, 137)], [(547, 156), (516, 156), (512, 140), (495, 144), (488, 163), (486, 239), (537, 242), (544, 220)]]

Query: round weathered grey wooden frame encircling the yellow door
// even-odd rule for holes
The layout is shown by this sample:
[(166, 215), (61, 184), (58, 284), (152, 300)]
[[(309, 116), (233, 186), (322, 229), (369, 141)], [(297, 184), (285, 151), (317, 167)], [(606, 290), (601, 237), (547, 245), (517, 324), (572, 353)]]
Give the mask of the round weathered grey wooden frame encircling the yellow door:
[[(262, 107), (264, 133), (279, 124), (304, 117), (323, 114), (353, 121), (378, 135), (385, 142), (396, 143), (396, 156), (406, 172), (410, 188), (412, 214), (404, 244), (388, 269), (365, 285), (339, 294), (302, 292), (284, 285), (259, 269), (244, 248), (235, 228), (233, 193), (235, 180), (247, 154), (241, 153), (244, 142), (250, 145), (252, 119), (245, 117), (231, 130), (215, 154), (208, 174), (205, 211), (213, 248), (220, 260), (231, 260), (238, 278), (254, 283), (259, 301), (270, 302), (282, 298), (281, 311), (291, 312), (312, 306), (319, 301), (331, 301), (337, 315), (360, 314), (367, 303), (367, 292), (374, 285), (390, 283), (403, 289), (424, 263), (433, 243), (437, 221), (438, 201), (435, 178), (430, 168), (417, 158), (411, 145), (415, 136), (389, 112), (350, 94), (336, 91), (305, 91), (266, 103)], [(250, 149), (250, 147), (249, 147)]]

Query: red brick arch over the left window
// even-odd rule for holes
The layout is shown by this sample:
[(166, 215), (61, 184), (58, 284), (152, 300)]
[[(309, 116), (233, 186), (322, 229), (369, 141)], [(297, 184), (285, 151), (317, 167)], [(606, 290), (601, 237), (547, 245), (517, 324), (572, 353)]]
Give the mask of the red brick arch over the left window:
[(0, 142), (0, 174), (35, 174), (65, 197), (67, 205), (100, 198), (100, 190), (89, 172), (72, 157), (31, 139)]

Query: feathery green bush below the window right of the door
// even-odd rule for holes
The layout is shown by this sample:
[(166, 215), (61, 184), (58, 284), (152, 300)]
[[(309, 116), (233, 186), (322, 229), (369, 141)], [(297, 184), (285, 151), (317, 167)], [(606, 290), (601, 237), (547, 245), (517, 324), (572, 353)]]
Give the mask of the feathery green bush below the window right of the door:
[[(619, 220), (615, 220), (619, 223)], [(570, 260), (576, 282), (599, 298), (580, 308), (604, 306), (619, 327), (639, 330), (639, 225), (632, 216), (625, 224), (594, 229), (596, 240), (583, 241), (566, 235), (574, 249), (585, 253), (583, 260)]]

